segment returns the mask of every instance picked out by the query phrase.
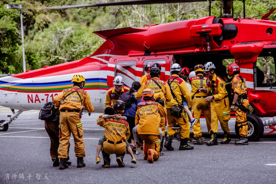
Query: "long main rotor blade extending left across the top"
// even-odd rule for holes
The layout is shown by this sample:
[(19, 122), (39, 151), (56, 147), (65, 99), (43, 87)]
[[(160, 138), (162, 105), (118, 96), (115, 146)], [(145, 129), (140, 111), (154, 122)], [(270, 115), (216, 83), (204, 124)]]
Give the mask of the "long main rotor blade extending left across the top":
[[(190, 3), (190, 2), (203, 2), (209, 0), (137, 0), (137, 1), (120, 1), (111, 3), (95, 3), (95, 4), (81, 4), (81, 5), (67, 5), (67, 6), (54, 6), (45, 7), (46, 9), (68, 9), (68, 8), (81, 8), (81, 7), (95, 7), (95, 6), (117, 6), (117, 5), (143, 5), (143, 4), (161, 4), (161, 3)], [(214, 1), (214, 0), (212, 0)]]

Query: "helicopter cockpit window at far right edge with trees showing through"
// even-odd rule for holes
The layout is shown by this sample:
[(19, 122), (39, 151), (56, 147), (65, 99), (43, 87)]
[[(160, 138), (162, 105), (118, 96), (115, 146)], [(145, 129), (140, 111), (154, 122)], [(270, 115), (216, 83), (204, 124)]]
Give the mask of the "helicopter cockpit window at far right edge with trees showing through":
[(274, 57), (258, 57), (254, 63), (254, 74), (256, 87), (276, 86)]

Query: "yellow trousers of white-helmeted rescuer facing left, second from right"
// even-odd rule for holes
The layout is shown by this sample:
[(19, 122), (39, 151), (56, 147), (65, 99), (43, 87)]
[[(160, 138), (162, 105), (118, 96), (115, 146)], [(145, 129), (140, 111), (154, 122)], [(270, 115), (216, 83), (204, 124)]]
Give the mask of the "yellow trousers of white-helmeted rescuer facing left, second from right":
[[(221, 100), (213, 100), (211, 102), (211, 130), (214, 133), (218, 132), (218, 120), (221, 124), (221, 129), (230, 133), (228, 128), (228, 120), (230, 119), (230, 107), (228, 97)], [(210, 131), (209, 131), (210, 133)]]

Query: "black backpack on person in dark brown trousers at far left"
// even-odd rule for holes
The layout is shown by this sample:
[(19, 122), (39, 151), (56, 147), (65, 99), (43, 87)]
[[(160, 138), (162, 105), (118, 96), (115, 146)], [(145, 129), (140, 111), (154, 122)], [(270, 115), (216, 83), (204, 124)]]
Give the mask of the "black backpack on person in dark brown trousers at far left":
[(44, 104), (43, 108), (39, 112), (40, 120), (57, 121), (60, 119), (60, 112), (55, 109), (54, 102), (50, 101)]

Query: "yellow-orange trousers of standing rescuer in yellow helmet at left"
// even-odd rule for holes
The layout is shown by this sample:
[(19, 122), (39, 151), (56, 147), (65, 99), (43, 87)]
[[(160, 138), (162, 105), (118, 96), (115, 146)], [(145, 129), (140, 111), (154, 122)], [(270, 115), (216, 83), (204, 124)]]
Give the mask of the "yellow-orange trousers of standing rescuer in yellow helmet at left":
[(76, 157), (85, 157), (83, 126), (78, 112), (60, 112), (60, 145), (58, 147), (58, 158), (68, 158), (68, 144), (72, 135), (75, 142)]

